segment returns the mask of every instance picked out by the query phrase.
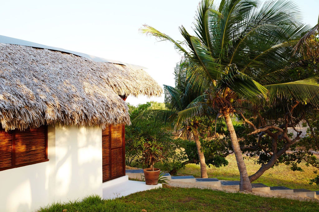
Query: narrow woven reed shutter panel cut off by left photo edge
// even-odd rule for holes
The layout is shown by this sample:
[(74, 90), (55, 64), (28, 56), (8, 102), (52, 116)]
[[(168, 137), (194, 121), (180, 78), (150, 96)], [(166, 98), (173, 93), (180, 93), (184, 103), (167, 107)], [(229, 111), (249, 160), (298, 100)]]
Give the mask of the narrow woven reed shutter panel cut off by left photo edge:
[(12, 165), (12, 131), (0, 129), (0, 168)]

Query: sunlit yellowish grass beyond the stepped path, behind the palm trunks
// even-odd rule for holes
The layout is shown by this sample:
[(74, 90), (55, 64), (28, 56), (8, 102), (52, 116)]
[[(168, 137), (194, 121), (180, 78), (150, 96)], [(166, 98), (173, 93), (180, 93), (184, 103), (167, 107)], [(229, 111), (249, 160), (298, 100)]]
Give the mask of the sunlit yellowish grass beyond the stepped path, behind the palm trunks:
[[(208, 177), (216, 177), (219, 180), (239, 180), (239, 171), (235, 155), (231, 154), (226, 158), (229, 162), (228, 166), (216, 168), (207, 167)], [(245, 159), (247, 172), (249, 175), (254, 174), (260, 165), (255, 164), (254, 160)], [(253, 183), (263, 183), (267, 186), (286, 186), (288, 188), (306, 188), (309, 190), (319, 190), (316, 185), (309, 185), (309, 179), (314, 178), (312, 167), (307, 167), (305, 162), (301, 164), (304, 172), (292, 171), (286, 165), (280, 164), (274, 168), (268, 169), (260, 178)], [(196, 164), (187, 164), (185, 169), (180, 169), (177, 175), (193, 175), (200, 177), (200, 166)]]

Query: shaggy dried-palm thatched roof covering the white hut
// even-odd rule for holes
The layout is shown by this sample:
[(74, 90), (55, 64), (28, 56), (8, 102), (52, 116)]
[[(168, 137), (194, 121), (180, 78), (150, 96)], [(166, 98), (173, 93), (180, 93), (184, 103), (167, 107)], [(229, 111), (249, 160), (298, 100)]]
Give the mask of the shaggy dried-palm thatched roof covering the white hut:
[(55, 123), (130, 124), (118, 94), (161, 92), (143, 73), (61, 51), (0, 44), (0, 123), (6, 130)]

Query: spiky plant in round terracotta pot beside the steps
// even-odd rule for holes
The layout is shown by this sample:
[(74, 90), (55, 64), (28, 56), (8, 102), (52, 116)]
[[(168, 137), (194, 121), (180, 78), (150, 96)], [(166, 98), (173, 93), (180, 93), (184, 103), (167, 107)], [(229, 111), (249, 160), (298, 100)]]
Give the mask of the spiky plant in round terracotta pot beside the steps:
[(147, 141), (143, 146), (143, 159), (149, 168), (144, 169), (146, 185), (157, 185), (159, 179), (159, 168), (154, 168), (154, 164), (164, 159), (162, 148), (156, 140)]

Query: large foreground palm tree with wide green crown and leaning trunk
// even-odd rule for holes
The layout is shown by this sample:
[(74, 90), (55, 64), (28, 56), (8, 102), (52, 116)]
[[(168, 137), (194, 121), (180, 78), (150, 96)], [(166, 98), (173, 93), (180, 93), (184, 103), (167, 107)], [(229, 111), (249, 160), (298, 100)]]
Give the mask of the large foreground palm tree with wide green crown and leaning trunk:
[[(172, 42), (182, 60), (189, 61), (187, 77), (210, 90), (205, 104), (225, 119), (240, 172), (240, 190), (252, 191), (252, 187), (231, 120), (238, 106), (243, 102), (271, 105), (278, 99), (318, 106), (317, 78), (296, 82), (286, 79), (286, 71), (300, 60), (299, 53), (292, 54), (293, 47), (309, 30), (299, 17), (297, 6), (284, 0), (263, 4), (255, 0), (222, 0), (219, 8), (212, 0), (202, 0), (195, 36), (183, 26), (179, 28), (183, 42), (148, 25), (141, 29)], [(188, 112), (198, 114), (199, 103), (193, 105)]]

